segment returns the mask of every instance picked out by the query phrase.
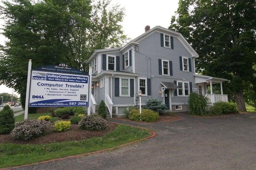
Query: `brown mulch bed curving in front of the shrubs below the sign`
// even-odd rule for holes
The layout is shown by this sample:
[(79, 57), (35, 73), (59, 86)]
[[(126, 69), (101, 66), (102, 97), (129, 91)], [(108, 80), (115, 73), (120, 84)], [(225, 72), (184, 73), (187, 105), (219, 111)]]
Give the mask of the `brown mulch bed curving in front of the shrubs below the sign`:
[(52, 142), (62, 141), (78, 141), (82, 139), (91, 138), (94, 136), (102, 136), (116, 129), (117, 124), (108, 122), (108, 126), (102, 131), (81, 130), (77, 124), (72, 124), (70, 129), (66, 132), (52, 131), (47, 135), (37, 137), (30, 141), (20, 141), (12, 138), (12, 135), (0, 135), (0, 143), (14, 143), (14, 144), (46, 144)]

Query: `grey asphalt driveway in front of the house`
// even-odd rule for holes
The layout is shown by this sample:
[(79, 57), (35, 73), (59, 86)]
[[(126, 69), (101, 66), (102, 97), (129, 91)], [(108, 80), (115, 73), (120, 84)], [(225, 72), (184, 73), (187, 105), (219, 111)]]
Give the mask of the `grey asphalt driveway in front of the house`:
[(184, 117), (179, 121), (140, 124), (157, 132), (147, 141), (22, 169), (256, 170), (256, 114), (220, 118), (179, 115)]

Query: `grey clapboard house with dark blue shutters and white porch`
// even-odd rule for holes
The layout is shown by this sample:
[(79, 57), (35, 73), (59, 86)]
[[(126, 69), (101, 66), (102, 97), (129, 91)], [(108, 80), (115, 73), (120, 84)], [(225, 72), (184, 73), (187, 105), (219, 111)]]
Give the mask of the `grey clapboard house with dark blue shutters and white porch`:
[[(195, 73), (197, 52), (178, 32), (155, 26), (123, 47), (97, 49), (87, 60), (92, 68), (92, 112), (101, 100), (112, 116), (122, 116), (123, 109), (142, 105), (148, 99), (166, 104), (169, 111), (188, 111), (189, 93), (205, 95), (209, 103), (227, 102), (222, 92), (222, 78)], [(212, 84), (220, 84), (221, 94), (212, 93)], [(207, 85), (211, 93), (207, 94)]]

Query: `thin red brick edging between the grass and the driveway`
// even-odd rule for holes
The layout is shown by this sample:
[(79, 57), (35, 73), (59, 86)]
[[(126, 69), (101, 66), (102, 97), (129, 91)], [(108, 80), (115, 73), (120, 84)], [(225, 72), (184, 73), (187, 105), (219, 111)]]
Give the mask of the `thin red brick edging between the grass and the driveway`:
[[(113, 122), (113, 123), (114, 124), (120, 124), (120, 123), (116, 123), (116, 122)], [(152, 135), (148, 136), (148, 137), (145, 137), (145, 138), (142, 138), (142, 139), (139, 139), (137, 141), (131, 141), (131, 142), (128, 142), (126, 144), (121, 144), (119, 146), (111, 147), (111, 148), (108, 148), (108, 149), (105, 149), (105, 150), (98, 150), (98, 151), (94, 151), (94, 152), (82, 153), (82, 154), (79, 154), (79, 155), (66, 156), (66, 157), (62, 157), (62, 158), (54, 158), (54, 159), (49, 159), (47, 161), (40, 161), (40, 162), (36, 162), (36, 163), (32, 163), (32, 164), (24, 164), (24, 165), (15, 166), (15, 167), (0, 168), (0, 170), (10, 170), (10, 169), (16, 169), (16, 168), (21, 168), (21, 167), (27, 167), (27, 166), (31, 166), (31, 165), (35, 165), (35, 164), (44, 164), (44, 163), (53, 162), (53, 161), (61, 161), (61, 160), (68, 159), (68, 158), (77, 158), (77, 157), (81, 157), (81, 156), (93, 155), (93, 154), (96, 154), (96, 153), (103, 153), (103, 152), (110, 151), (110, 150), (113, 150), (113, 149), (116, 149), (116, 148), (125, 147), (127, 145), (137, 143), (139, 141), (154, 138), (155, 135), (157, 135), (157, 133), (155, 133), (153, 130), (149, 130), (145, 127), (138, 127), (138, 126), (132, 126), (132, 125), (127, 125), (127, 124), (123, 124), (123, 125), (130, 126), (130, 127), (137, 127), (137, 128), (143, 129), (143, 130), (148, 130), (148, 132), (150, 132)]]

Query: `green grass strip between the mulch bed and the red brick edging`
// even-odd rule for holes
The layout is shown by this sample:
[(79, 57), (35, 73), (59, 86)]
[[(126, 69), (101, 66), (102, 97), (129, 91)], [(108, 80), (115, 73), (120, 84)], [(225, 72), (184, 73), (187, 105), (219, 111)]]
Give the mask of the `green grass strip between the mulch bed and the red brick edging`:
[(0, 168), (104, 150), (150, 136), (147, 130), (118, 125), (116, 130), (81, 141), (52, 144), (0, 144)]

